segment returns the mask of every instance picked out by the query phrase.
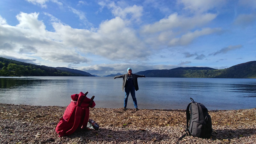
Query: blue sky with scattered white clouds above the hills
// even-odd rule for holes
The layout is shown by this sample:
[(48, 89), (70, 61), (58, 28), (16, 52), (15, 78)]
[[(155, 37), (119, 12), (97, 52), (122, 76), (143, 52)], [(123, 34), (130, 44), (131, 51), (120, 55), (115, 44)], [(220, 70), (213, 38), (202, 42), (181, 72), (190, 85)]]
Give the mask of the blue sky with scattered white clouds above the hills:
[(255, 0), (1, 0), (0, 57), (106, 76), (256, 60)]

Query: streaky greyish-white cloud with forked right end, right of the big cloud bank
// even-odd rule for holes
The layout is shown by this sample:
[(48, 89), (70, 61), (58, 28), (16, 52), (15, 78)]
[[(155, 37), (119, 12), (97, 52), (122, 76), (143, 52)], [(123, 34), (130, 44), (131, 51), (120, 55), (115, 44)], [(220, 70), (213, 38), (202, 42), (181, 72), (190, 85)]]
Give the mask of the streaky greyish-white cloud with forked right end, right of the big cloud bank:
[[(195, 38), (219, 32), (220, 28), (202, 28), (206, 23), (216, 18), (216, 14), (205, 13), (191, 17), (173, 13), (168, 18), (161, 19), (153, 24), (145, 25), (140, 33), (146, 42), (158, 49), (159, 45), (177, 46), (190, 44)], [(190, 32), (193, 30), (194, 32)]]

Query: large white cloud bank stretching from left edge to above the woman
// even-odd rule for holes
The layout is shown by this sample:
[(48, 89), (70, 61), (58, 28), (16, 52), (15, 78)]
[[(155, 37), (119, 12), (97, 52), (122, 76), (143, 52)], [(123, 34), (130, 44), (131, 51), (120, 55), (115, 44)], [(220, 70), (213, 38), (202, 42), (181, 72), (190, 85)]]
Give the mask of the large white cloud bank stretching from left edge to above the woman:
[[(43, 21), (38, 20), (38, 15), (36, 12), (21, 12), (17, 15), (20, 22), (17, 26), (3, 25), (4, 38), (0, 40), (0, 45), (5, 44), (6, 47), (9, 44), (17, 54), (68, 63), (72, 62), (68, 57), (75, 63), (89, 62), (90, 60), (81, 56), (89, 53), (109, 60), (124, 61), (146, 60), (149, 55), (146, 46), (136, 36), (136, 31), (127, 27), (126, 21), (119, 17), (102, 22), (96, 31), (71, 28), (60, 22), (52, 22), (55, 32), (50, 32), (45, 29)], [(52, 20), (58, 21), (54, 17)], [(15, 45), (10, 45), (12, 42)]]

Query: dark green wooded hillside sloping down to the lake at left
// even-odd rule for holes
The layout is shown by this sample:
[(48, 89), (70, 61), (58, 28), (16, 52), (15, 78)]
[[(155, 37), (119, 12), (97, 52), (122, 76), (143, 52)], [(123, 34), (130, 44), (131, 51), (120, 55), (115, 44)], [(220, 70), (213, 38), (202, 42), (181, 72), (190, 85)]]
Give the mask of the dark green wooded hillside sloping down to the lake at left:
[(71, 68), (53, 68), (0, 57), (0, 76), (92, 76)]

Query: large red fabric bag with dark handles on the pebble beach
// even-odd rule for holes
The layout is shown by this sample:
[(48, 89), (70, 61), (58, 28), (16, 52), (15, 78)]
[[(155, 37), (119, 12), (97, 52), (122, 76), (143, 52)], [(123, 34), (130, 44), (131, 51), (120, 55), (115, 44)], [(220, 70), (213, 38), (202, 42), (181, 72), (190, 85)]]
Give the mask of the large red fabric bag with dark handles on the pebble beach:
[(93, 108), (95, 106), (94, 96), (89, 99), (86, 97), (87, 93), (80, 92), (71, 95), (72, 100), (55, 129), (59, 137), (70, 135), (77, 128), (86, 129), (89, 120), (89, 107)]

